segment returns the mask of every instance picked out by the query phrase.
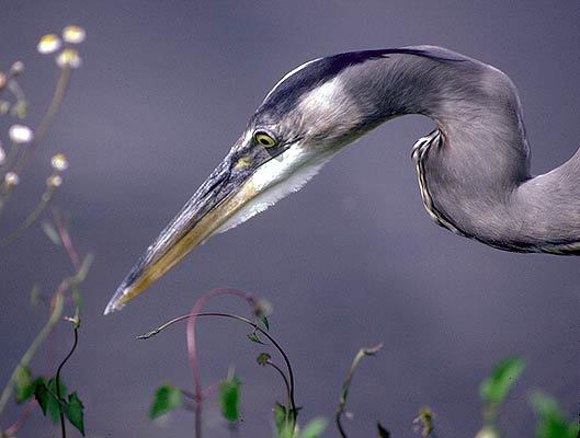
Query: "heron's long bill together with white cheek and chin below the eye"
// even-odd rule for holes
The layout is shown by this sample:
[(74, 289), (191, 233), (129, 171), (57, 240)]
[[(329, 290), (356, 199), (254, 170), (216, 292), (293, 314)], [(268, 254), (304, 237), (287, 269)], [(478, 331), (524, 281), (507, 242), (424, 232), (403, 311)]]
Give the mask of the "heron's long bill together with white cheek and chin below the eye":
[(298, 191), (330, 159), (294, 143), (277, 153), (239, 140), (183, 209), (145, 251), (109, 302), (120, 310), (212, 234), (248, 220)]

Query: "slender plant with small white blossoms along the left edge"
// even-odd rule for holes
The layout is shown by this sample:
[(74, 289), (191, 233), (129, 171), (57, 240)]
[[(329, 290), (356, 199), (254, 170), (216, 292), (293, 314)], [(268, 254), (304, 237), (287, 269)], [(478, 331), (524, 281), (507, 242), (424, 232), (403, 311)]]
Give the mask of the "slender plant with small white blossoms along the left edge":
[[(45, 139), (62, 104), (72, 70), (80, 67), (81, 64), (81, 58), (76, 47), (83, 39), (84, 30), (76, 25), (66, 26), (62, 30), (61, 37), (49, 34), (39, 39), (37, 49), (41, 54), (56, 55), (55, 61), (59, 69), (59, 77), (50, 104), (34, 129), (24, 122), (27, 115), (27, 100), (19, 83), (19, 78), (24, 72), (23, 62), (14, 62), (5, 73), (0, 71), (0, 116), (16, 119), (8, 130), (8, 138), (10, 139), (8, 152), (0, 143), (0, 216), (5, 212), (9, 201), (16, 193), (16, 187), (31, 155)], [(0, 246), (13, 244), (29, 228), (37, 222), (46, 211), (46, 208), (54, 201), (54, 195), (62, 184), (62, 173), (68, 169), (68, 165), (65, 154), (55, 153), (53, 155), (50, 159), (50, 173), (46, 178), (46, 187), (38, 203), (14, 230), (0, 237)], [(87, 277), (92, 256), (89, 254), (81, 261), (70, 239), (66, 220), (62, 219), (56, 208), (53, 208), (52, 218), (43, 220), (42, 228), (53, 243), (66, 251), (75, 274), (64, 278), (50, 297), (45, 297), (41, 293), (39, 285), (33, 287), (31, 306), (35, 308), (43, 303), (48, 304), (49, 316), (44, 327), (16, 364), (0, 394), (0, 414), (2, 414), (12, 393), (15, 394), (18, 404), (26, 403), (20, 418), (8, 428), (0, 430), (2, 437), (15, 436), (32, 413), (35, 402), (37, 402), (43, 414), (49, 417), (54, 424), (60, 423), (62, 437), (66, 437), (65, 419), (68, 419), (72, 426), (84, 435), (83, 404), (77, 391), (70, 393), (67, 391), (60, 374), (78, 345), (79, 313), (81, 308), (80, 286)], [(68, 301), (72, 302), (75, 313), (73, 316), (62, 318)], [(50, 364), (45, 374), (34, 376), (31, 370), (34, 356), (46, 339), (52, 336), (56, 324), (62, 320), (67, 320), (73, 325), (75, 339), (72, 347), (58, 364), (56, 373), (53, 377), (48, 378), (47, 376), (52, 376), (54, 372), (52, 371), (54, 364)]]

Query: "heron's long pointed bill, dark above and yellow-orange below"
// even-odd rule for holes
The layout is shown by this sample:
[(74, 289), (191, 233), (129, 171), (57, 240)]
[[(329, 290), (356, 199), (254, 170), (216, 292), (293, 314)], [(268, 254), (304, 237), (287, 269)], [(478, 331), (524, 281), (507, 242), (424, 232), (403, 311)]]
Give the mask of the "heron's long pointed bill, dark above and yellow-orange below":
[(248, 158), (238, 159), (230, 152), (140, 256), (104, 314), (122, 309), (255, 197), (251, 175), (257, 165), (249, 165)]

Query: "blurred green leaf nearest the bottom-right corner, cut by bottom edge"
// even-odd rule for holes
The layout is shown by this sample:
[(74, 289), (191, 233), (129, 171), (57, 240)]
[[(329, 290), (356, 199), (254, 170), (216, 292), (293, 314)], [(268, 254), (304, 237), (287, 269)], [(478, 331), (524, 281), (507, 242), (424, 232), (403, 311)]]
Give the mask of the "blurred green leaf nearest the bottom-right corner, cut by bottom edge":
[(579, 425), (576, 422), (568, 424), (566, 415), (560, 410), (556, 399), (536, 391), (530, 397), (536, 413), (537, 438), (577, 438)]

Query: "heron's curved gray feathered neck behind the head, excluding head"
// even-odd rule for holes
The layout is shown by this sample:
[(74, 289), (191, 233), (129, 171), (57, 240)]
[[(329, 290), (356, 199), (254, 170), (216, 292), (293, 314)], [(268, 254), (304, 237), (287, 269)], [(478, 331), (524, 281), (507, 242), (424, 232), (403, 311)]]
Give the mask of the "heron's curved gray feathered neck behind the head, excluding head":
[(344, 84), (361, 130), (405, 114), (432, 118), (443, 135), (423, 168), (431, 198), (464, 234), (510, 251), (580, 252), (580, 152), (530, 174), (518, 92), (498, 69), (440, 47), (443, 58), (389, 55), (349, 68)]

